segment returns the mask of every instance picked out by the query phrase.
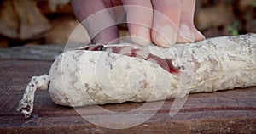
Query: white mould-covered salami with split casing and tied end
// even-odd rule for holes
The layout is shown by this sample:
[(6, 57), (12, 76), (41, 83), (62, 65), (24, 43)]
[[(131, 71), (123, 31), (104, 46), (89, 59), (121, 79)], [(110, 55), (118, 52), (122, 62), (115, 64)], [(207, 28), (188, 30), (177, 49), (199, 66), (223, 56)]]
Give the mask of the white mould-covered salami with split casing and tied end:
[(55, 103), (72, 107), (255, 86), (255, 42), (256, 34), (247, 34), (171, 48), (124, 43), (70, 50), (55, 59), (49, 76), (32, 78), (18, 110), (29, 117), (34, 92), (47, 86)]

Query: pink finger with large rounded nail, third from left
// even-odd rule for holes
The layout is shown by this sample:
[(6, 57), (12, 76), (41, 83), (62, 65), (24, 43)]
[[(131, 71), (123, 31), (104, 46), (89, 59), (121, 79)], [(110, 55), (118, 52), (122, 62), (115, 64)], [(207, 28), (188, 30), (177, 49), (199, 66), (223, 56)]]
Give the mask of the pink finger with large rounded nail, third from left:
[(154, 8), (152, 41), (160, 47), (172, 47), (177, 41), (181, 16), (180, 0), (152, 0)]

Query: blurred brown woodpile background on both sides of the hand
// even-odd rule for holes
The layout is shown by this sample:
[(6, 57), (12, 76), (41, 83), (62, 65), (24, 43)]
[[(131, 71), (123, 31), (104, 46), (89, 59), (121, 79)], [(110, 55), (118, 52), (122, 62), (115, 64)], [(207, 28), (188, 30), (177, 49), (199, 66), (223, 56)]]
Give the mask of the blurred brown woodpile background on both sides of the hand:
[[(69, 0), (0, 1), (0, 48), (65, 44), (78, 25)], [(256, 0), (197, 0), (195, 25), (206, 37), (256, 32)]]

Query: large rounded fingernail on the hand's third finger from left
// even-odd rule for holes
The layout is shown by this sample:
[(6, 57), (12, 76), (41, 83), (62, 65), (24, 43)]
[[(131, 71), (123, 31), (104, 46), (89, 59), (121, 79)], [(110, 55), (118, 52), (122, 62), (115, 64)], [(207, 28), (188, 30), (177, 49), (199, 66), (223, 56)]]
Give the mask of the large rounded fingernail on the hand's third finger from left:
[(159, 42), (161, 47), (172, 47), (177, 40), (177, 32), (170, 25), (162, 26), (156, 31), (155, 41)]

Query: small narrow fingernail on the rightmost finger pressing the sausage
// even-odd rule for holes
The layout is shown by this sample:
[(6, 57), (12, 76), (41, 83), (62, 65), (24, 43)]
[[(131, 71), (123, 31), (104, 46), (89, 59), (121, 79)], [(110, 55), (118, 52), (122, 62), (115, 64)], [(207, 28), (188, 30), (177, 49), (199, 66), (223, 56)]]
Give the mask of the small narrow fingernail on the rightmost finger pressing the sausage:
[(195, 35), (188, 25), (179, 26), (179, 36), (182, 36), (187, 42), (195, 42)]

